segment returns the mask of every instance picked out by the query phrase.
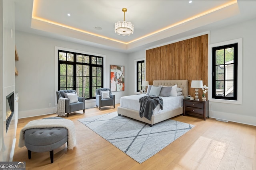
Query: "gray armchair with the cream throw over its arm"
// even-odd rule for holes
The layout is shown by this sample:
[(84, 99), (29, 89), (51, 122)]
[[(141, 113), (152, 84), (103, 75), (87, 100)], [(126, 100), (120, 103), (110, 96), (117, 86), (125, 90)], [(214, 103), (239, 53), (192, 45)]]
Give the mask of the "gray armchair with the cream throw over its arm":
[[(67, 98), (67, 96), (65, 97), (64, 93), (73, 93), (73, 92), (76, 93), (76, 90), (60, 90), (60, 91), (56, 92), (57, 102), (60, 97)], [(69, 113), (71, 113), (71, 112), (78, 111), (78, 110), (84, 111), (84, 109), (85, 109), (84, 103), (85, 103), (84, 97), (78, 97), (78, 102), (75, 102), (75, 103), (70, 103), (69, 99), (65, 100), (65, 113), (67, 113), (67, 117), (68, 117)]]

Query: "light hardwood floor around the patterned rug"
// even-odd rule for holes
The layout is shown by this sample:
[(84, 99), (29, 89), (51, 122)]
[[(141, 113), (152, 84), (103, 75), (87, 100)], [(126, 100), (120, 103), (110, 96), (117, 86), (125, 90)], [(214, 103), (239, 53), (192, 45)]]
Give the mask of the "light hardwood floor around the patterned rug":
[(77, 119), (117, 110), (111, 107), (86, 109), (71, 113), (66, 119), (74, 122), (77, 144), (68, 150), (66, 144), (50, 153), (32, 152), (28, 159), (26, 147), (19, 148), (20, 130), (31, 120), (54, 117), (55, 114), (18, 120), (13, 161), (26, 161), (26, 170), (256, 170), (256, 127), (215, 119), (177, 116), (173, 119), (196, 125), (182, 137), (139, 164)]

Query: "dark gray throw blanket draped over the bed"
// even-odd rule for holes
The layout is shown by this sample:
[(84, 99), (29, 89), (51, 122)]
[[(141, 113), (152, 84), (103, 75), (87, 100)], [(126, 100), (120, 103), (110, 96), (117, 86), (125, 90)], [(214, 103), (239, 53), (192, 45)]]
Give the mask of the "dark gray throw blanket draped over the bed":
[(140, 117), (145, 117), (151, 120), (153, 115), (153, 110), (160, 104), (161, 109), (163, 109), (163, 99), (159, 96), (144, 96), (139, 99), (140, 102)]

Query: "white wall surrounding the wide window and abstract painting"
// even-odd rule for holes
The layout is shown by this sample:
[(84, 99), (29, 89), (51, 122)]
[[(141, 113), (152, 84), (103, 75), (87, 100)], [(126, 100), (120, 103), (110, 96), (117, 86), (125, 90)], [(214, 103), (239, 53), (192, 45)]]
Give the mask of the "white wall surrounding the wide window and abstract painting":
[[(20, 96), (19, 118), (56, 112), (56, 46), (106, 55), (104, 87), (110, 86), (110, 64), (125, 66), (125, 84), (128, 82), (126, 76), (129, 76), (131, 69), (128, 65), (128, 55), (125, 53), (16, 31), (16, 47), (19, 54), (19, 61), (16, 62), (19, 71), (16, 76), (16, 92)], [(116, 95), (116, 103), (120, 101), (121, 96), (128, 95), (128, 89), (129, 86), (125, 86), (125, 91), (113, 92)], [(52, 107), (49, 107), (49, 103)]]

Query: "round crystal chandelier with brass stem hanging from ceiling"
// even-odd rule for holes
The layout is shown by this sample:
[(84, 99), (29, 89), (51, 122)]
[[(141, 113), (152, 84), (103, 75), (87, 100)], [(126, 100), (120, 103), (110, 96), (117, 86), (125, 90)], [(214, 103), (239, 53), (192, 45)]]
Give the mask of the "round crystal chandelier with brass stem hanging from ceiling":
[(124, 12), (124, 21), (118, 21), (115, 23), (115, 33), (123, 36), (131, 35), (133, 34), (134, 25), (131, 22), (125, 21), (125, 12), (127, 12), (127, 9), (123, 8), (122, 12)]

